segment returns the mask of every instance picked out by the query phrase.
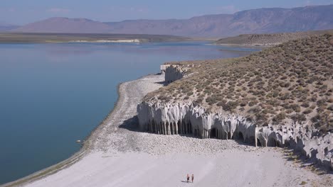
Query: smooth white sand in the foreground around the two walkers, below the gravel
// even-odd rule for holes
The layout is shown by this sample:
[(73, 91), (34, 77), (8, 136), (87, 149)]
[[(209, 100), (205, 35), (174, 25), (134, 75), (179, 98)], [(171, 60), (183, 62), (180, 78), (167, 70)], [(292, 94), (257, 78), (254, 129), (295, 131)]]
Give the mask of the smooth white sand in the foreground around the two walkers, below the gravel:
[[(194, 183), (186, 183), (186, 174), (194, 174)], [(287, 166), (280, 152), (95, 153), (29, 186), (297, 186), (307, 181), (303, 176), (306, 172)]]

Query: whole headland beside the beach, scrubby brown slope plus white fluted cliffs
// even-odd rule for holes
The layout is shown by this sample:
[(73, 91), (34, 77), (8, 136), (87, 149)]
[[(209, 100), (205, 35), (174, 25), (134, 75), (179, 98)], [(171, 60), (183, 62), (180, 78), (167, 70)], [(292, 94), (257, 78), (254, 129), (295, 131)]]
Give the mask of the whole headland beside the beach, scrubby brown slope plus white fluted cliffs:
[(172, 83), (137, 106), (139, 127), (291, 147), (333, 169), (332, 54), (327, 34), (240, 59), (169, 64)]

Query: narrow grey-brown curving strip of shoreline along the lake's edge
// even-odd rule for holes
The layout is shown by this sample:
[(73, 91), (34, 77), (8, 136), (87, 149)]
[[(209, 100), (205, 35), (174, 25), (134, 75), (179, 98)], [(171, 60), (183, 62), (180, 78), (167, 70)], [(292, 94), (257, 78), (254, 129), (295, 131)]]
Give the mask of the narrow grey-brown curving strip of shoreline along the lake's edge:
[[(151, 74), (139, 77), (138, 79), (135, 79), (133, 81), (144, 79), (144, 77), (149, 77)], [(61, 171), (63, 169), (68, 168), (69, 166), (72, 166), (76, 162), (80, 161), (83, 157), (85, 157), (87, 154), (89, 154), (93, 150), (93, 144), (96, 143), (96, 138), (98, 137), (99, 133), (98, 130), (102, 130), (105, 125), (109, 122), (110, 118), (112, 118), (112, 114), (117, 111), (119, 108), (120, 103), (124, 100), (124, 93), (121, 93), (120, 89), (121, 86), (126, 84), (129, 81), (122, 82), (120, 84), (117, 84), (117, 101), (115, 103), (115, 106), (112, 108), (110, 113), (108, 113), (104, 120), (97, 125), (90, 134), (85, 137), (85, 140), (83, 140), (82, 146), (78, 152), (75, 152), (72, 156), (70, 156), (68, 159), (65, 159), (61, 162), (58, 162), (57, 164), (53, 164), (52, 166), (48, 166), (45, 169), (41, 169), (40, 171), (36, 171), (33, 174), (30, 174), (28, 176), (24, 176), (21, 179), (17, 179), (16, 181), (11, 181), (9, 183), (1, 184), (0, 187), (9, 187), (9, 186), (23, 186), (27, 183), (32, 183), (33, 181), (38, 181), (40, 179), (43, 179), (47, 176), (50, 176), (52, 174), (56, 174), (58, 171)]]

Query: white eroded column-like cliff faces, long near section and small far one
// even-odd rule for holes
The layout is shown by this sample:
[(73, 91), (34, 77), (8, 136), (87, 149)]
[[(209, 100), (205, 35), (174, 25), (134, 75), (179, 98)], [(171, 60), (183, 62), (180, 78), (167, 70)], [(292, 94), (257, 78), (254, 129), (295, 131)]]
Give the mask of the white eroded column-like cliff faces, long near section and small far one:
[[(165, 81), (181, 79), (188, 69), (170, 65)], [(211, 113), (192, 101), (144, 101), (137, 106), (139, 128), (161, 135), (190, 134), (199, 138), (238, 139), (255, 146), (291, 147), (333, 169), (333, 135), (319, 136), (307, 123), (258, 127), (236, 113)]]

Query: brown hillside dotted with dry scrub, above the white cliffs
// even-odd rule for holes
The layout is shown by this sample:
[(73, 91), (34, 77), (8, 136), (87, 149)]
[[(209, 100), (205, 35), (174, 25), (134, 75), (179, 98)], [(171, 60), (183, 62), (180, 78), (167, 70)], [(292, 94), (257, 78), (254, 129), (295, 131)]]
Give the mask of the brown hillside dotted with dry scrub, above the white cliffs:
[(310, 121), (333, 132), (333, 35), (270, 47), (248, 57), (177, 62), (191, 76), (146, 96), (240, 113), (258, 125)]

